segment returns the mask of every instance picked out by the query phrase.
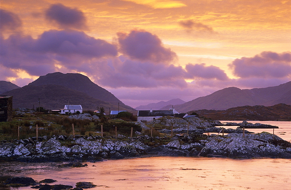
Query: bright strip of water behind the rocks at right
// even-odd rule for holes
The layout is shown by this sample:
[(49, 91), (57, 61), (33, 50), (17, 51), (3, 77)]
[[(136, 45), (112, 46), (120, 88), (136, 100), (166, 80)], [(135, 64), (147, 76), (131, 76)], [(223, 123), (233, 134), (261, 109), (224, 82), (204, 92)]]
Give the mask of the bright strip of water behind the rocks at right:
[[(221, 123), (224, 122), (235, 122), (241, 123), (242, 121), (220, 121)], [(274, 134), (283, 138), (285, 141), (291, 141), (291, 121), (248, 121), (249, 123), (262, 123), (268, 125), (274, 125), (279, 127), (279, 129), (274, 129)], [(224, 128), (228, 129), (236, 129), (238, 126), (224, 126)], [(260, 133), (260, 132), (269, 132), (273, 134), (273, 129), (246, 129), (250, 132)]]

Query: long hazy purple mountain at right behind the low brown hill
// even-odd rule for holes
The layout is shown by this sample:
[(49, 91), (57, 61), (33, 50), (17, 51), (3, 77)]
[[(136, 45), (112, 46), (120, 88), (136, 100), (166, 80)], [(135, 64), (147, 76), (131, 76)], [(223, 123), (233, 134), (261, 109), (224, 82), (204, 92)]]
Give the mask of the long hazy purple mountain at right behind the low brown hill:
[(180, 112), (191, 110), (226, 110), (238, 106), (271, 106), (284, 103), (291, 104), (291, 81), (279, 86), (267, 88), (253, 88), (241, 90), (236, 87), (224, 88), (210, 95), (198, 97), (194, 100), (174, 108)]

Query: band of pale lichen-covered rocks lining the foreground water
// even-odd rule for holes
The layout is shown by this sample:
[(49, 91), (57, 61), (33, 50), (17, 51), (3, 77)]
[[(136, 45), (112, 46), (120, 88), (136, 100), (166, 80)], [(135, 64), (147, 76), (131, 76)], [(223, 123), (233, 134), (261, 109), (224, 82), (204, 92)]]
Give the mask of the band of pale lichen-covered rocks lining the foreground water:
[(245, 134), (244, 137), (242, 133), (217, 136), (196, 132), (172, 138), (147, 135), (132, 138), (77, 135), (73, 138), (72, 135), (54, 135), (0, 143), (0, 159), (9, 161), (96, 162), (143, 155), (291, 158), (291, 144), (267, 132)]

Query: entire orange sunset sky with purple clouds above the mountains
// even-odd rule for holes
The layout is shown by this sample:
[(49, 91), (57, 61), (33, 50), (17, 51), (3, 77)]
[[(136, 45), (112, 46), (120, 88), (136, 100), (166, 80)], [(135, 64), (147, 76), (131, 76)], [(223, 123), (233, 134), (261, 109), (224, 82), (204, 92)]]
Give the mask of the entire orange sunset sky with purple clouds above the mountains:
[(0, 0), (0, 80), (81, 73), (136, 107), (291, 81), (291, 1)]

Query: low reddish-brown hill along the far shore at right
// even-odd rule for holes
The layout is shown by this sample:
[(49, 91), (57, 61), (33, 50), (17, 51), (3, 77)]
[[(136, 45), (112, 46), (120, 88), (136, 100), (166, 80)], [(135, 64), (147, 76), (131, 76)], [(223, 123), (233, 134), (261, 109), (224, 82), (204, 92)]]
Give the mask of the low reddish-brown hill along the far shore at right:
[(257, 120), (257, 121), (291, 121), (291, 106), (287, 104), (276, 104), (274, 106), (239, 106), (227, 110), (196, 110), (189, 111), (199, 116), (213, 120)]

